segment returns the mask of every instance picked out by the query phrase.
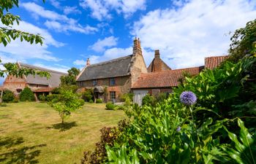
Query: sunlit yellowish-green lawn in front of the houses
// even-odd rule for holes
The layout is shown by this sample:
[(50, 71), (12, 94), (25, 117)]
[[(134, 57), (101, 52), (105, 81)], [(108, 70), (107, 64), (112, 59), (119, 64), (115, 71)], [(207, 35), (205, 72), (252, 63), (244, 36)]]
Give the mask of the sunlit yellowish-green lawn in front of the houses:
[(99, 130), (124, 119), (105, 104), (85, 104), (63, 127), (48, 104), (18, 103), (0, 107), (0, 163), (80, 163), (93, 150)]

